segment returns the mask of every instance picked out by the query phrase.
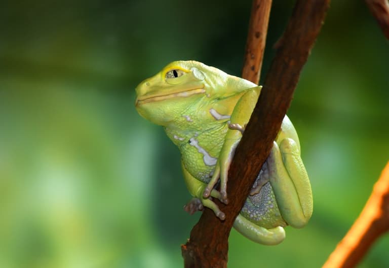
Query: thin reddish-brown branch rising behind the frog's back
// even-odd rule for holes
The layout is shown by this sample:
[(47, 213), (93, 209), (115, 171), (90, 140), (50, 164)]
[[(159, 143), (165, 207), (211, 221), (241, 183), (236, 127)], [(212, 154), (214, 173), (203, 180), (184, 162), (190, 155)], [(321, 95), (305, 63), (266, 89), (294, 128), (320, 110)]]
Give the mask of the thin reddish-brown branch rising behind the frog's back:
[(242, 77), (255, 84), (261, 74), (270, 7), (271, 0), (254, 0), (251, 8)]

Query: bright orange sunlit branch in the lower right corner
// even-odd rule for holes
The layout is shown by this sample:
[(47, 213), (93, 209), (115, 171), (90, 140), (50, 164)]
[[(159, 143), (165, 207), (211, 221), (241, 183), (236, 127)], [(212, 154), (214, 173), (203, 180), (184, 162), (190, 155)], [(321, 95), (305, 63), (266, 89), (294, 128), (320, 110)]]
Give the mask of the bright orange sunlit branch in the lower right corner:
[(367, 203), (323, 267), (355, 267), (374, 241), (389, 230), (389, 162)]

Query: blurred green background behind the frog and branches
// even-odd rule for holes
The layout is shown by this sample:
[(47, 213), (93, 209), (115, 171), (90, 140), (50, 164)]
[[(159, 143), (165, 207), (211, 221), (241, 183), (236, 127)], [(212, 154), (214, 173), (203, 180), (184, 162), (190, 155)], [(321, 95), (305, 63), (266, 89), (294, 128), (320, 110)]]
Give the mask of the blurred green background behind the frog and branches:
[[(263, 74), (293, 3), (275, 1)], [(240, 76), (251, 1), (3, 1), (0, 267), (182, 267), (200, 214), (179, 152), (134, 109), (177, 59)], [(289, 117), (315, 210), (278, 246), (235, 230), (229, 267), (319, 267), (389, 159), (389, 43), (362, 1), (333, 1)], [(360, 267), (388, 267), (389, 236)]]

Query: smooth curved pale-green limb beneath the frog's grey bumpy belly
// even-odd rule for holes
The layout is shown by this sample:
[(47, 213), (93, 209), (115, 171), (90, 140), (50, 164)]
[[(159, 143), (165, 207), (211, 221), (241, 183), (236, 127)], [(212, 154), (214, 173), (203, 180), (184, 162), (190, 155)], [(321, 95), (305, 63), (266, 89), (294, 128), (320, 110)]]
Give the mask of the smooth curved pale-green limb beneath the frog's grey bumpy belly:
[(251, 241), (263, 245), (277, 245), (285, 239), (283, 227), (266, 229), (252, 223), (242, 215), (236, 218), (234, 228)]

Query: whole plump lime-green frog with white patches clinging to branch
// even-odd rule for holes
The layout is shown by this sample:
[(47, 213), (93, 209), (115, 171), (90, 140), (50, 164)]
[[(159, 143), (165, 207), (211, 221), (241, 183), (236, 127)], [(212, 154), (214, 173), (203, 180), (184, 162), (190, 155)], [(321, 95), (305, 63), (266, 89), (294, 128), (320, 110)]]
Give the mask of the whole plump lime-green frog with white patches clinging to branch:
[[(135, 89), (137, 112), (164, 127), (179, 148), (190, 214), (211, 209), (225, 214), (228, 169), (262, 90), (248, 80), (194, 60), (173, 61)], [(284, 227), (301, 228), (313, 212), (309, 178), (297, 132), (285, 115), (269, 156), (233, 227), (263, 245), (285, 239)]]

